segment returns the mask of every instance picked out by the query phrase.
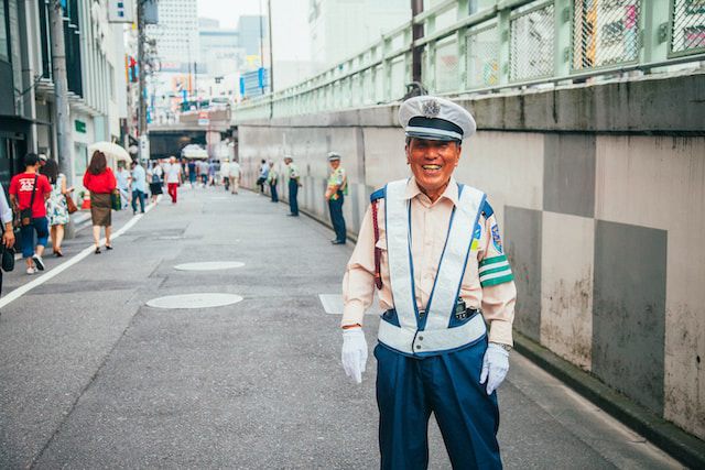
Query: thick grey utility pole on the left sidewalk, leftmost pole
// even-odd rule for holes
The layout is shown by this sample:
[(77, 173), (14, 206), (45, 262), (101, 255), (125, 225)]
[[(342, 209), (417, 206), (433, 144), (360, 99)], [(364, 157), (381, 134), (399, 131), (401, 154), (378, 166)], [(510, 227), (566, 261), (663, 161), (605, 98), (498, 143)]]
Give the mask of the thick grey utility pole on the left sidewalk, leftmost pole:
[(54, 80), (54, 122), (56, 123), (58, 170), (73, 184), (72, 138), (68, 109), (68, 81), (66, 79), (66, 47), (64, 46), (64, 14), (59, 0), (53, 0), (50, 12), (50, 34), (52, 36), (52, 79)]

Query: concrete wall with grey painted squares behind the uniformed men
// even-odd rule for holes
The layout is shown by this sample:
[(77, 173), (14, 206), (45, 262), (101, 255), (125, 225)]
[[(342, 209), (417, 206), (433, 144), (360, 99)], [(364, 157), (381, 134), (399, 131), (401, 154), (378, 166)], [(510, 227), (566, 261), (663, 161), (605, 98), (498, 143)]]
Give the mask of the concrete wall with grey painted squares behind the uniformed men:
[[(516, 328), (705, 438), (704, 75), (462, 101), (478, 133), (458, 181), (489, 195), (517, 276)], [(345, 215), (408, 175), (397, 106), (251, 122), (240, 160), (292, 153), (300, 205), (327, 220), (325, 155), (343, 156)], [(283, 194), (285, 182), (280, 184)]]

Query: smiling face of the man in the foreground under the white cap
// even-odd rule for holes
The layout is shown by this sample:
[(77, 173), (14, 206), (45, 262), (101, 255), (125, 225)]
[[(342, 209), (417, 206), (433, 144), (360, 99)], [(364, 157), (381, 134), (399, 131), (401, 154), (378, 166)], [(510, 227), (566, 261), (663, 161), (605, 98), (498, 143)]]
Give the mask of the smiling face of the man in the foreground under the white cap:
[(460, 160), (460, 143), (412, 138), (406, 144), (406, 162), (416, 184), (432, 200), (445, 190)]

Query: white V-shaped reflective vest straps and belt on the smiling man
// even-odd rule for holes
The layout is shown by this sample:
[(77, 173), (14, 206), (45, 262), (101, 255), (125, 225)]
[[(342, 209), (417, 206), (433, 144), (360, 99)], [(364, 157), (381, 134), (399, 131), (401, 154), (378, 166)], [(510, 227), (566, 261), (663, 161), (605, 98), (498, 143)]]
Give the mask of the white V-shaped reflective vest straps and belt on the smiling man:
[(456, 349), (480, 338), (485, 331), (481, 315), (448, 328), (455, 310), (465, 266), (467, 265), (475, 226), (480, 216), (485, 194), (470, 187), (458, 188), (458, 206), (451, 216), (446, 243), (441, 255), (435, 283), (426, 305), (425, 321), (419, 318), (415, 302), (413, 260), (411, 254), (411, 206), (404, 198), (408, 181), (389, 183), (384, 209), (390, 284), (399, 327), (380, 321), (380, 342), (409, 354)]

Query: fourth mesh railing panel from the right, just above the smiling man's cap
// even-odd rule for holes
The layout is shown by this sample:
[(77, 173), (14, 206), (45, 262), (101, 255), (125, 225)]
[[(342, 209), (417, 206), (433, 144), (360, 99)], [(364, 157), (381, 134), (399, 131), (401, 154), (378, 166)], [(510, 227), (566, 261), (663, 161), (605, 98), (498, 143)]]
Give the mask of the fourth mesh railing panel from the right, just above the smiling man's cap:
[(468, 88), (499, 85), (499, 29), (497, 24), (480, 25), (467, 36)]

